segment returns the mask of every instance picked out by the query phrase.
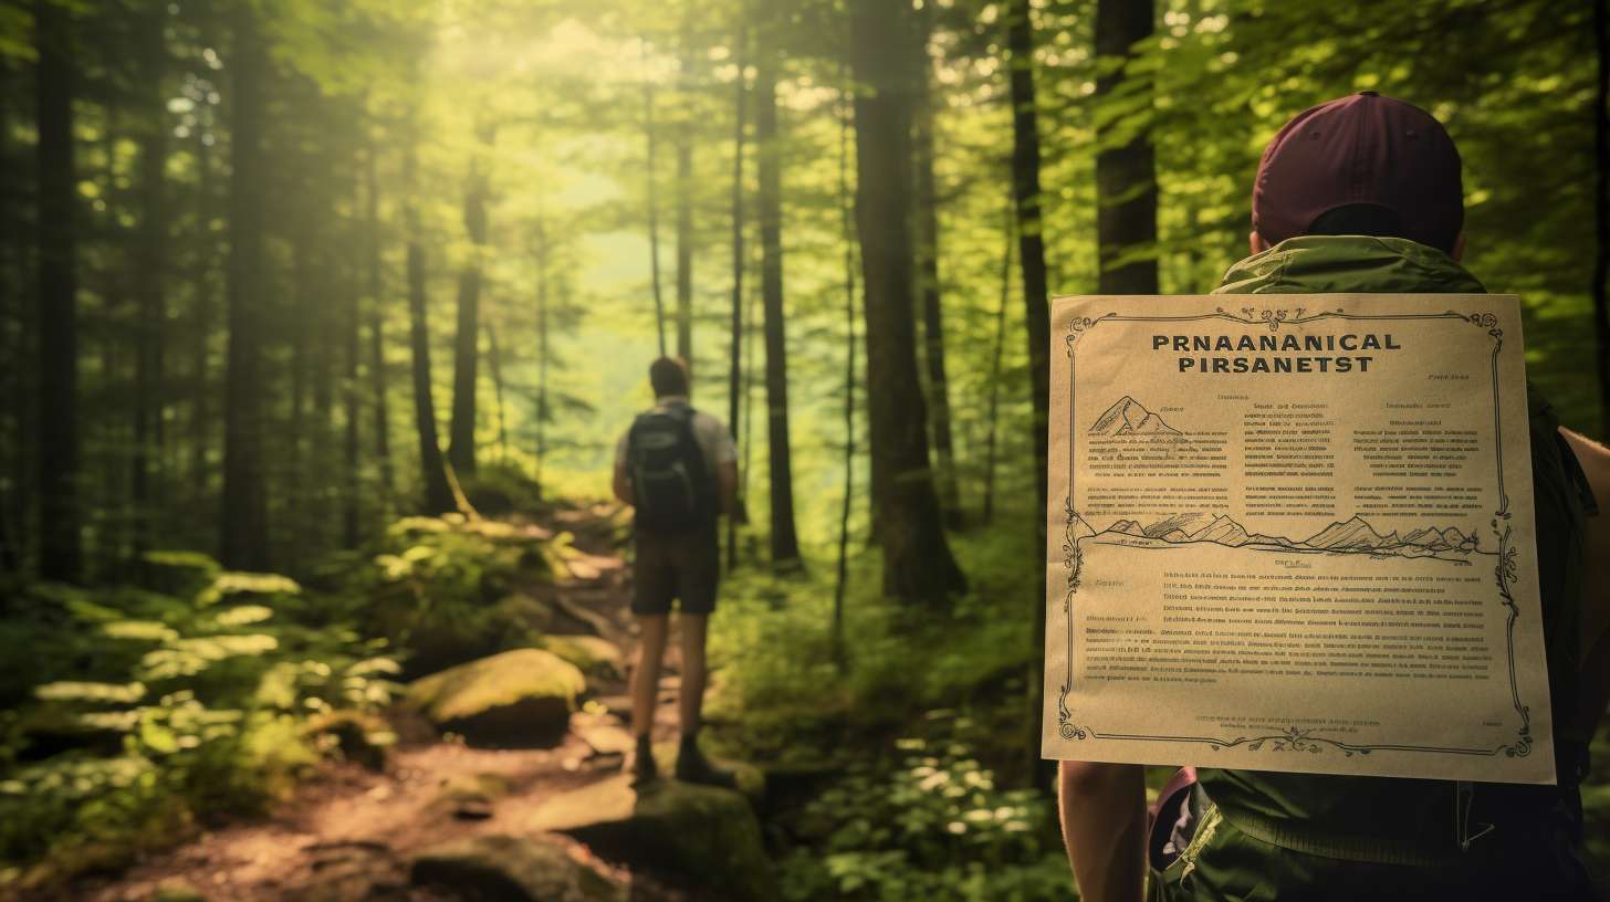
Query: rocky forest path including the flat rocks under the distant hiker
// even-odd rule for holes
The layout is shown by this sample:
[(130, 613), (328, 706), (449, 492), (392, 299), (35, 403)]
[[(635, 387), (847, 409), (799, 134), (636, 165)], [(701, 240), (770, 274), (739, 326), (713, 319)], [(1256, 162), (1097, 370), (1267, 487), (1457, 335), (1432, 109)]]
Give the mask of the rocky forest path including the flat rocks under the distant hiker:
[[(671, 781), (639, 796), (630, 786), (621, 772), (630, 734), (620, 664), (630, 660), (634, 641), (630, 577), (609, 536), (609, 509), (562, 511), (551, 525), (573, 532), (581, 554), (570, 562), (568, 578), (528, 591), (554, 593), (547, 601), (591, 623), (589, 631), (609, 643), (605, 656), (615, 657), (589, 673), (588, 702), (570, 715), (557, 744), (472, 747), (443, 739), (423, 717), (399, 709), (391, 715), (399, 743), (382, 772), (324, 765), (270, 817), (200, 833), (114, 879), (84, 879), (68, 897), (671, 902), (770, 896), (758, 825), (742, 796)], [(655, 723), (657, 743), (667, 744), (676, 730), (675, 649), (673, 636)], [(663, 768), (668, 754), (660, 757)]]

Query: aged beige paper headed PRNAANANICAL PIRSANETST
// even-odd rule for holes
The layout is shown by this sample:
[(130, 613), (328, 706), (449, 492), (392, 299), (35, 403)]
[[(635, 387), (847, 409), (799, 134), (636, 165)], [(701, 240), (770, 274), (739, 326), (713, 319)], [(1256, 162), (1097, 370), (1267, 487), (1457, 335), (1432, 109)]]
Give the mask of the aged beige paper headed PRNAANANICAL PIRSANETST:
[(1517, 298), (1051, 337), (1045, 757), (1554, 783)]

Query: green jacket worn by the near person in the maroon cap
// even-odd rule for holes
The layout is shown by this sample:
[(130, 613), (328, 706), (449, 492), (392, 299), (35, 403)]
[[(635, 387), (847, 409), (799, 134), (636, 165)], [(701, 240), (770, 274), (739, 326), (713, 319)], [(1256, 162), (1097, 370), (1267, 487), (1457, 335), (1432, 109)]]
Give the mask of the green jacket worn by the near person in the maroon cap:
[[(1443, 251), (1415, 242), (1302, 235), (1232, 266), (1214, 293), (1320, 292), (1481, 293), (1486, 288)], [(1575, 498), (1576, 483), (1562, 477), (1567, 464), (1555, 435), (1557, 420), (1539, 396), (1528, 391), (1528, 401), (1550, 689), (1552, 697), (1562, 699), (1576, 691), (1581, 507)], [(1575, 873), (1579, 870), (1575, 852), (1562, 862), (1552, 859), (1557, 847), (1579, 846), (1571, 836), (1579, 763), (1571, 749), (1578, 743), (1563, 736), (1555, 739), (1562, 744), (1560, 780), (1570, 784), (1565, 792), (1438, 780), (1201, 768), (1201, 789), (1212, 802), (1201, 820), (1204, 830), (1188, 855), (1182, 855), (1183, 862), (1169, 868), (1172, 883), (1162, 881), (1167, 886), (1159, 891), (1167, 899), (1325, 899), (1338, 889), (1346, 889), (1336, 892), (1340, 899), (1354, 892), (1381, 897), (1380, 881), (1407, 891), (1407, 871), (1414, 870), (1430, 881), (1423, 888), (1435, 894), (1430, 897), (1444, 897), (1444, 891), (1465, 881), (1496, 886), (1499, 878), (1470, 860), (1499, 847), (1512, 850), (1517, 842), (1534, 846), (1523, 855), (1510, 855), (1512, 862), (1531, 862), (1528, 873), (1555, 867)], [(1463, 799), (1470, 810), (1470, 823), (1462, 828), (1467, 838), (1480, 831), (1480, 825), (1499, 821), (1489, 838), (1470, 844), (1472, 852), (1460, 852), (1457, 842), (1460, 792), (1470, 792)], [(1343, 860), (1348, 857), (1352, 860)], [(1418, 865), (1410, 868), (1404, 862)], [(1439, 863), (1423, 867), (1426, 862)], [(1180, 871), (1190, 876), (1182, 881)], [(1547, 897), (1536, 896), (1534, 884), (1526, 886), (1528, 897)]]

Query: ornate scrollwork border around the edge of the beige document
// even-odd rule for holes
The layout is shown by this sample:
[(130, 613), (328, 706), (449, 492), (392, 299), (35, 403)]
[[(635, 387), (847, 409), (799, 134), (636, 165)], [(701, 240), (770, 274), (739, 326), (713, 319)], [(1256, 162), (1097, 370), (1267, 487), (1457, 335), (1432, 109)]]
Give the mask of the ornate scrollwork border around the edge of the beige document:
[[(1079, 512), (1074, 509), (1074, 462), (1079, 454), (1074, 453), (1077, 435), (1074, 435), (1074, 366), (1077, 356), (1074, 354), (1079, 340), (1088, 335), (1095, 327), (1103, 322), (1193, 322), (1201, 319), (1220, 319), (1228, 322), (1240, 322), (1246, 325), (1267, 325), (1272, 332), (1278, 330), (1282, 325), (1296, 325), (1302, 322), (1317, 322), (1322, 319), (1348, 319), (1348, 321), (1410, 321), (1410, 319), (1446, 319), (1451, 322), (1463, 322), (1484, 330), (1492, 338), (1492, 428), (1494, 446), (1497, 449), (1497, 478), (1499, 478), (1499, 509), (1492, 512), (1492, 532), (1499, 536), (1497, 565), (1492, 569), (1492, 577), (1497, 585), (1499, 598), (1504, 607), (1509, 609), (1509, 622), (1505, 625), (1505, 635), (1509, 641), (1509, 681), (1510, 681), (1510, 697), (1515, 702), (1515, 714), (1520, 718), (1520, 725), (1515, 730), (1515, 739), (1512, 743), (1502, 743), (1492, 747), (1459, 747), (1459, 746), (1415, 746), (1415, 744), (1357, 744), (1344, 743), (1325, 736), (1319, 728), (1301, 728), (1288, 726), (1282, 733), (1269, 733), (1262, 736), (1151, 736), (1151, 734), (1133, 734), (1133, 733), (1101, 733), (1088, 723), (1075, 722), (1074, 712), (1067, 707), (1067, 696), (1074, 685), (1074, 596), (1079, 593), (1079, 573), (1084, 569), (1084, 549), (1079, 548), (1080, 536), (1074, 535), (1074, 523), (1080, 520)], [(1319, 754), (1322, 751), (1336, 749), (1348, 757), (1367, 755), (1377, 751), (1386, 752), (1436, 752), (1444, 755), (1473, 755), (1473, 757), (1526, 757), (1531, 754), (1531, 707), (1521, 704), (1520, 686), (1515, 675), (1515, 620), (1520, 617), (1520, 606), (1515, 604), (1515, 596), (1510, 593), (1510, 586), (1517, 580), (1515, 572), (1515, 546), (1510, 543), (1510, 511), (1509, 511), (1509, 493), (1504, 490), (1504, 427), (1502, 427), (1502, 406), (1499, 403), (1499, 350), (1504, 346), (1504, 330), (1497, 325), (1497, 316), (1491, 312), (1438, 312), (1438, 314), (1383, 314), (1383, 316), (1357, 316), (1344, 312), (1341, 308), (1319, 312), (1307, 312), (1304, 308), (1291, 309), (1257, 309), (1257, 308), (1240, 308), (1240, 314), (1230, 312), (1224, 308), (1216, 308), (1216, 312), (1198, 314), (1198, 316), (1119, 316), (1114, 312), (1098, 316), (1098, 317), (1074, 317), (1067, 327), (1067, 335), (1064, 337), (1064, 345), (1067, 346), (1067, 498), (1063, 504), (1064, 525), (1063, 525), (1063, 569), (1067, 570), (1066, 591), (1063, 594), (1063, 619), (1067, 622), (1067, 672), (1063, 676), (1061, 691), (1056, 696), (1056, 717), (1058, 717), (1058, 734), (1063, 739), (1130, 739), (1130, 741), (1153, 741), (1153, 743), (1199, 743), (1212, 751), (1233, 749), (1246, 746), (1249, 751), (1262, 751), (1267, 747), (1275, 752), (1311, 752)]]

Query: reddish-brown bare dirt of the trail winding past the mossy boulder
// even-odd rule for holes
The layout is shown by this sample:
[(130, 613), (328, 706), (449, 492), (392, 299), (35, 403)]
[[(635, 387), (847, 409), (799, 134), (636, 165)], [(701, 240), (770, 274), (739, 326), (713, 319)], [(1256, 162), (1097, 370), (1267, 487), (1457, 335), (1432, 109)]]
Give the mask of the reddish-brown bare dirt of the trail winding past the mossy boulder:
[[(602, 636), (631, 660), (636, 628), (630, 615), (630, 573), (612, 548), (607, 507), (559, 511), (544, 525), (576, 535), (583, 554), (572, 575), (554, 586), (565, 604), (597, 619)], [(679, 659), (667, 649), (655, 741), (676, 731)], [(528, 833), (531, 813), (549, 797), (620, 772), (620, 739), (628, 715), (623, 681), (591, 681), (596, 705), (572, 718), (572, 730), (552, 749), (472, 749), (443, 743), (423, 722), (398, 718), (399, 743), (383, 773), (353, 763), (327, 763), (267, 818), (204, 831), (118, 878), (80, 879), (64, 899), (143, 902), (179, 881), (211, 902), (346, 902), (357, 899), (444, 900), (407, 884), (412, 854), (477, 834)], [(592, 743), (588, 743), (588, 738)], [(507, 792), (465, 801), (454, 788), (488, 776)], [(444, 792), (446, 791), (446, 792)], [(634, 900), (679, 900), (678, 891), (594, 859), (584, 846), (572, 854), (631, 883)]]

